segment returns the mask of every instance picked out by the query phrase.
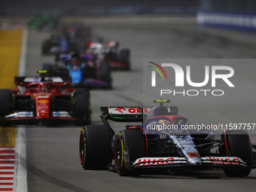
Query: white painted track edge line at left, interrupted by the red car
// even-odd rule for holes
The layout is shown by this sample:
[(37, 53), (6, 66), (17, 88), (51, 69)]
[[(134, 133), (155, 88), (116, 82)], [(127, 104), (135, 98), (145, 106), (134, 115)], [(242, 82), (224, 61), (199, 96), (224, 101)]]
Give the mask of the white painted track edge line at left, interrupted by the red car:
[[(28, 44), (27, 26), (23, 29), (23, 45), (20, 56), (19, 76), (26, 75), (26, 50)], [(16, 129), (16, 150), (17, 150), (17, 172), (14, 177), (14, 191), (27, 192), (27, 172), (26, 172), (26, 128), (18, 126)]]

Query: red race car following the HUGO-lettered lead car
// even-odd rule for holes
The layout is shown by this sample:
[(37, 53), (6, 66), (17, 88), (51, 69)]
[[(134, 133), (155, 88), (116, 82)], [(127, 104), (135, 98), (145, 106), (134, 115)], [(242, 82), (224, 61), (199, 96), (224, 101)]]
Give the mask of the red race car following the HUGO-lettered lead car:
[(87, 89), (66, 89), (62, 78), (15, 77), (18, 89), (0, 90), (0, 123), (91, 123), (90, 93)]

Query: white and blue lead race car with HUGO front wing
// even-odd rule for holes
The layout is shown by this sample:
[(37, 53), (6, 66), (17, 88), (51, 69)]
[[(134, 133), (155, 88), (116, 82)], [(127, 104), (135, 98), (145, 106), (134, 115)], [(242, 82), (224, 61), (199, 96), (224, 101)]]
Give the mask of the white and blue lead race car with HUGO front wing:
[[(218, 168), (228, 177), (244, 177), (256, 168), (256, 146), (251, 145), (244, 130), (225, 130), (220, 140), (211, 131), (184, 130), (187, 118), (178, 115), (177, 107), (164, 107), (163, 102), (168, 100), (154, 102), (160, 102), (160, 106), (102, 107), (104, 125), (81, 130), (81, 166), (100, 169), (111, 167), (114, 160), (112, 166), (121, 176), (141, 175), (150, 169), (175, 172)], [(143, 123), (126, 126), (115, 134), (108, 120)]]

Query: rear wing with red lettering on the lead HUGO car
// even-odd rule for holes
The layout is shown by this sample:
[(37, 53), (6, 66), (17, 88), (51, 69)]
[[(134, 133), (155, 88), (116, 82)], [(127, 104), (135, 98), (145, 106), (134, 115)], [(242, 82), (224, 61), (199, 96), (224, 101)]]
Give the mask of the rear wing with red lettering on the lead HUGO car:
[[(146, 117), (154, 107), (101, 107), (102, 121), (114, 120), (120, 122), (143, 122), (143, 117)], [(178, 114), (178, 107), (166, 107), (169, 115)], [(103, 120), (104, 119), (104, 120)]]

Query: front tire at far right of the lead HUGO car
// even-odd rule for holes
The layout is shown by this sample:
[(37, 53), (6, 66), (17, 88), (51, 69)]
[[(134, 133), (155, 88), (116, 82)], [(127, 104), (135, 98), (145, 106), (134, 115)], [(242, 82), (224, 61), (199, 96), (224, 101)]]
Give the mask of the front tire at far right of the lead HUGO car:
[[(227, 131), (227, 147), (229, 157), (241, 158), (247, 166), (252, 164), (252, 148), (248, 133), (245, 130)], [(228, 177), (245, 177), (248, 176), (251, 169), (224, 169)]]

